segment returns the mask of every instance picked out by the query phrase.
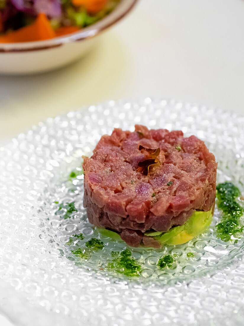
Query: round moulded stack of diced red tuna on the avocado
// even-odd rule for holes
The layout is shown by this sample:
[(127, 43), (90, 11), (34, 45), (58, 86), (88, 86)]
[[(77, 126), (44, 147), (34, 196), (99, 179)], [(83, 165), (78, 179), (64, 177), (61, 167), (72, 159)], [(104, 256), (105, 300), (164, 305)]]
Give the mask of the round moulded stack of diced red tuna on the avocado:
[[(148, 175), (136, 171), (148, 158), (139, 145), (161, 151)], [(217, 163), (195, 136), (136, 125), (134, 132), (114, 129), (102, 136), (93, 153), (83, 163), (88, 219), (119, 233), (129, 245), (157, 247), (143, 232), (166, 232), (183, 225), (195, 210), (214, 206)]]

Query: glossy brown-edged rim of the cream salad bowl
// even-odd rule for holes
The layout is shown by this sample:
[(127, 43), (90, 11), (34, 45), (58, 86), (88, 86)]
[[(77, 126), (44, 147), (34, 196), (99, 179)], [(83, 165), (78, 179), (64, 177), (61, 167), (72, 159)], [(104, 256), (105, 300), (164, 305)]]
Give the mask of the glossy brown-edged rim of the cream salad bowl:
[(126, 16), (135, 6), (138, 0), (122, 0), (114, 10), (107, 16), (95, 22), (94, 24), (82, 28), (78, 32), (67, 34), (65, 36), (54, 37), (43, 41), (18, 42), (18, 43), (0, 43), (0, 52), (25, 52), (55, 48), (65, 43), (83, 41), (92, 38), (107, 28), (113, 26)]

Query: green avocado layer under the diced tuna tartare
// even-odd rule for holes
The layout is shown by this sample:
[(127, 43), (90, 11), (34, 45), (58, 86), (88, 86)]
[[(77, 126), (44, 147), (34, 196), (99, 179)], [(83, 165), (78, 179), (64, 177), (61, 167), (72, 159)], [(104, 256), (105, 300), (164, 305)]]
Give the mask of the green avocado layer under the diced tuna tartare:
[[(188, 221), (176, 227), (172, 227), (167, 232), (146, 231), (145, 236), (153, 237), (161, 245), (177, 245), (184, 244), (206, 230), (212, 221), (212, 211), (202, 212), (195, 211)], [(97, 230), (105, 237), (110, 237), (115, 241), (123, 241), (120, 235), (114, 231), (97, 228)]]

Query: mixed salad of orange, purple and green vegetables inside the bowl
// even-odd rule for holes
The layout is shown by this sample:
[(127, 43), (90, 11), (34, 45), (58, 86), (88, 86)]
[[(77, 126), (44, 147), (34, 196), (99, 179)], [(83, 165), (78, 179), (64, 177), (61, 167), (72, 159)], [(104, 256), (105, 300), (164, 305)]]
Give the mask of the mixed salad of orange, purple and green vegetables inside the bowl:
[(0, 43), (46, 40), (79, 31), (120, 0), (0, 0)]

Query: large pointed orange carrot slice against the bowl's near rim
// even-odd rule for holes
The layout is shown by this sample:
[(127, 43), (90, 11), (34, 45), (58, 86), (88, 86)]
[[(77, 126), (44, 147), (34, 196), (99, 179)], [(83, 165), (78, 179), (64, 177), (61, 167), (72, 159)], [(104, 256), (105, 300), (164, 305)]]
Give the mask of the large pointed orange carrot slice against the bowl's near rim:
[(0, 43), (41, 41), (55, 37), (45, 14), (39, 14), (35, 22), (0, 37)]

